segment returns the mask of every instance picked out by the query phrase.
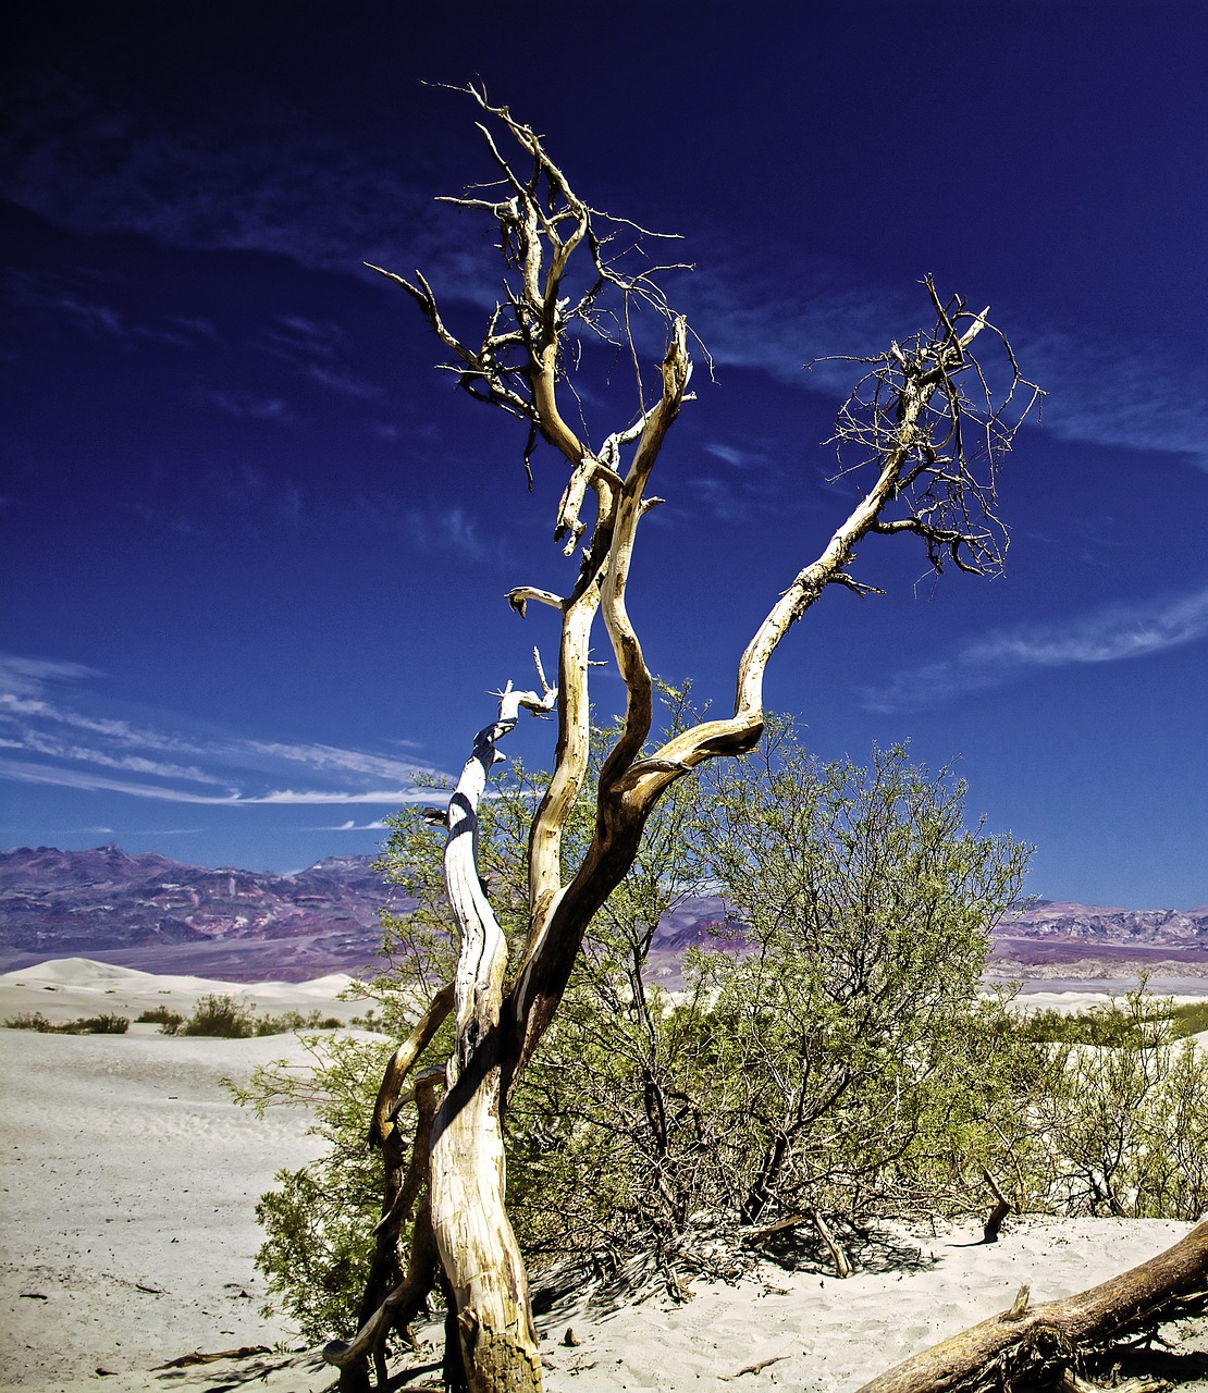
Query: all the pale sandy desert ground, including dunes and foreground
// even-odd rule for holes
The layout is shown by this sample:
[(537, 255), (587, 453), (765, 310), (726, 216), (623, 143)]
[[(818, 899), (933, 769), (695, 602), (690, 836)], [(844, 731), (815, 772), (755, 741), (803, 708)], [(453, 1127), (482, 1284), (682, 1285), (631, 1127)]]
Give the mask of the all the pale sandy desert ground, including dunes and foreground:
[[(323, 993), (333, 985), (245, 990), (270, 1010), (326, 1011)], [(224, 989), (60, 961), (0, 978), (0, 1018), (24, 1010), (53, 1018), (137, 1014), (164, 1000), (180, 1009), (191, 993)], [(304, 1116), (279, 1112), (258, 1121), (219, 1084), (284, 1055), (301, 1059), (288, 1036), (0, 1031), (0, 1389), (332, 1387), (334, 1371), (313, 1353), (155, 1368), (194, 1350), (294, 1343), (284, 1322), (258, 1314), (252, 1205), (276, 1169), (304, 1163), (316, 1144)], [(769, 1385), (851, 1393), (915, 1350), (1005, 1309), (1024, 1282), (1034, 1301), (1069, 1295), (1152, 1256), (1188, 1227), (1020, 1222), (992, 1247), (974, 1244), (973, 1227), (901, 1230), (861, 1254), (844, 1282), (768, 1268), (738, 1286), (698, 1283), (683, 1305), (655, 1298), (607, 1309), (570, 1298), (539, 1322), (546, 1387), (723, 1393), (741, 1376), (748, 1393)], [(568, 1326), (578, 1344), (563, 1343)], [(1208, 1329), (1194, 1339), (1208, 1347)], [(750, 1372), (762, 1361), (772, 1362)], [(431, 1386), (436, 1376), (421, 1369), (407, 1386)], [(1194, 1387), (1208, 1389), (1208, 1380)]]

